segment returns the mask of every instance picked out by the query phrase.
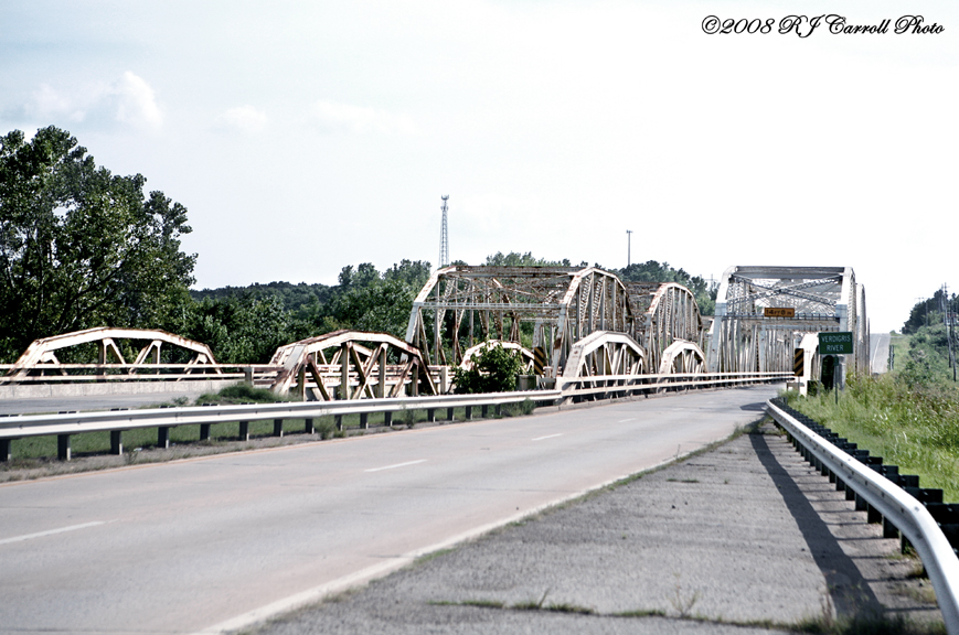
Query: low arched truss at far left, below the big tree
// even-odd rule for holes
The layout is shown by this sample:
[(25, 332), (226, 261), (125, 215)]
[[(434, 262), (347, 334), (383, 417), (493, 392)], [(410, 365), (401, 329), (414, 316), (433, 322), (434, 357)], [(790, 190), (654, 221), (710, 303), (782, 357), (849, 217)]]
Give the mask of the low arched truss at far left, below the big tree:
[[(121, 346), (118, 344), (118, 342), (122, 341), (126, 341), (130, 349), (139, 349), (132, 362), (127, 362), (124, 358), (124, 354), (120, 351)], [(8, 372), (7, 376), (22, 378), (31, 374), (43, 373), (50, 368), (61, 368), (61, 362), (56, 357), (57, 351), (90, 343), (96, 344), (96, 360), (90, 360), (88, 364), (70, 364), (68, 366), (72, 370), (95, 370), (104, 365), (120, 365), (120, 370), (132, 375), (139, 369), (154, 367), (160, 364), (160, 349), (164, 344), (188, 352), (189, 362), (185, 365), (180, 365), (181, 367), (185, 366), (188, 370), (194, 367), (196, 367), (195, 369), (203, 369), (203, 366), (216, 364), (216, 360), (213, 358), (213, 352), (210, 351), (206, 344), (173, 335), (166, 331), (99, 326), (87, 329), (86, 331), (75, 331), (73, 333), (54, 335), (53, 337), (34, 340)], [(209, 370), (216, 374), (222, 373), (219, 367), (213, 367)], [(61, 373), (66, 374), (66, 370), (61, 369)]]

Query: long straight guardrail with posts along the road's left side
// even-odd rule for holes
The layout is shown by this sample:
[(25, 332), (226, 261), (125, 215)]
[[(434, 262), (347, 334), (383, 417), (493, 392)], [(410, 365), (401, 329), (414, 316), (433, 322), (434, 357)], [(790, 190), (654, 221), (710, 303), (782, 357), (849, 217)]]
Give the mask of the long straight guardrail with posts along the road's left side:
[(57, 455), (70, 460), (70, 437), (83, 432), (110, 432), (110, 451), (122, 453), (121, 434), (125, 430), (140, 428), (158, 429), (158, 445), (169, 445), (169, 430), (179, 426), (200, 426), (200, 440), (210, 438), (210, 426), (214, 423), (239, 423), (241, 439), (249, 438), (251, 421), (274, 420), (274, 433), (283, 433), (286, 419), (305, 419), (306, 428), (312, 431), (312, 419), (332, 416), (338, 428), (345, 415), (360, 415), (361, 429), (366, 428), (371, 413), (384, 413), (386, 424), (392, 415), (404, 410), (426, 410), (427, 419), (435, 420), (436, 410), (447, 409), (447, 419), (452, 418), (455, 408), (466, 408), (467, 418), (471, 409), (520, 403), (525, 400), (547, 403), (568, 403), (583, 398), (610, 398), (636, 392), (657, 392), (686, 388), (716, 388), (758, 381), (776, 381), (787, 378), (786, 373), (717, 373), (684, 375), (604, 375), (558, 378), (557, 389), (522, 390), (494, 392), (488, 395), (446, 395), (434, 397), (402, 397), (385, 399), (352, 399), (335, 401), (301, 401), (281, 403), (246, 403), (231, 406), (191, 406), (174, 408), (152, 408), (138, 410), (111, 410), (100, 412), (61, 412), (57, 415), (21, 415), (0, 417), (0, 461), (11, 459), (11, 442), (26, 437), (57, 437)]

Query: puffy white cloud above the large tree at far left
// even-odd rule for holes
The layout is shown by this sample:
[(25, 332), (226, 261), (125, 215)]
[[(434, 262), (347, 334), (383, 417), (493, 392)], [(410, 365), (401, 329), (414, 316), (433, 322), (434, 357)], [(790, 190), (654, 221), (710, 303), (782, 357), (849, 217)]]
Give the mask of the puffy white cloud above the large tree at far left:
[(129, 71), (110, 84), (67, 88), (41, 84), (24, 105), (23, 115), (47, 121), (65, 118), (75, 122), (120, 122), (147, 129), (158, 129), (163, 123), (163, 112), (153, 89)]

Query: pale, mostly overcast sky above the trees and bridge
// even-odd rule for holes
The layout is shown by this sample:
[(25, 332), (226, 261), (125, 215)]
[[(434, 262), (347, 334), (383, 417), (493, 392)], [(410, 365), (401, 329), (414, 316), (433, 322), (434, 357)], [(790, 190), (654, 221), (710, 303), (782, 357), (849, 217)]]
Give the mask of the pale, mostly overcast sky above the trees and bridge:
[[(779, 32), (831, 14), (891, 22)], [(852, 267), (898, 330), (959, 292), (957, 112), (946, 0), (0, 4), (0, 133), (187, 206), (198, 289), (435, 267), (449, 195), (454, 260)]]

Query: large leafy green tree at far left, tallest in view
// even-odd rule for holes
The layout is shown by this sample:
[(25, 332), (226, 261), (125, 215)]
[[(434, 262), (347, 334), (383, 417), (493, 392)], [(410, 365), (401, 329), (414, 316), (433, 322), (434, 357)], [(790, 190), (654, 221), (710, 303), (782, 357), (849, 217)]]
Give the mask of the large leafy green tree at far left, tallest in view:
[(189, 301), (187, 208), (145, 183), (53, 126), (0, 137), (0, 356), (81, 329), (154, 327)]

